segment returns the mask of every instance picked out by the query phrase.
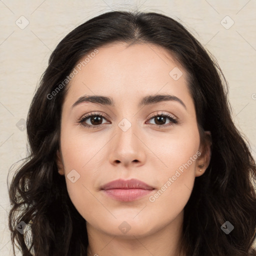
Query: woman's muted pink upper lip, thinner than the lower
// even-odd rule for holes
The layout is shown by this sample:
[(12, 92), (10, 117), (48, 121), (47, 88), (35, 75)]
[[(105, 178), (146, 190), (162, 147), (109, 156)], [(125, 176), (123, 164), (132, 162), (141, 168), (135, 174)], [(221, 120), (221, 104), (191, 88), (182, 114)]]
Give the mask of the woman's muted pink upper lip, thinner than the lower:
[(152, 186), (146, 184), (145, 182), (131, 178), (131, 179), (116, 179), (112, 180), (103, 186), (101, 186), (101, 189), (107, 190), (107, 189), (134, 189), (134, 188), (140, 188), (140, 189), (154, 189)]

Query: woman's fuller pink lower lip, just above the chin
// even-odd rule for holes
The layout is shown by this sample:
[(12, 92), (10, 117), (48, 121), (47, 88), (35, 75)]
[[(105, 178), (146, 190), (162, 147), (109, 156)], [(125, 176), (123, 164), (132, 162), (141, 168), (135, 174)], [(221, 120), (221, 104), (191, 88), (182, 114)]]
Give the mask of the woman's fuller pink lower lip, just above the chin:
[(106, 195), (109, 197), (118, 200), (118, 201), (134, 201), (142, 196), (149, 194), (154, 189), (141, 189), (141, 188), (132, 188), (132, 189), (107, 189), (103, 190)]

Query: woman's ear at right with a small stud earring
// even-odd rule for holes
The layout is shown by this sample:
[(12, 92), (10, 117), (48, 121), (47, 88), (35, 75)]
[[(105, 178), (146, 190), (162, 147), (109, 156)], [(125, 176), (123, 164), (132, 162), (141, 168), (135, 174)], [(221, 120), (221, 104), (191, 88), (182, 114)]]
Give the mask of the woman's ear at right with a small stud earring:
[(201, 176), (209, 165), (211, 157), (211, 134), (210, 131), (204, 131), (204, 137), (200, 142), (199, 152), (201, 153), (197, 160), (195, 176)]

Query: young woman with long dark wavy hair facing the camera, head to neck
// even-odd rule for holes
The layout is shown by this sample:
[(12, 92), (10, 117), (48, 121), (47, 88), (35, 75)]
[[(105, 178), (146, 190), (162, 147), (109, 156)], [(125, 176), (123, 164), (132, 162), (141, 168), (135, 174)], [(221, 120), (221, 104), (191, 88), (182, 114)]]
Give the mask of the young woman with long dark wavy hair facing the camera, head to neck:
[(217, 63), (177, 21), (110, 11), (52, 52), (9, 196), (22, 255), (252, 256), (256, 167)]

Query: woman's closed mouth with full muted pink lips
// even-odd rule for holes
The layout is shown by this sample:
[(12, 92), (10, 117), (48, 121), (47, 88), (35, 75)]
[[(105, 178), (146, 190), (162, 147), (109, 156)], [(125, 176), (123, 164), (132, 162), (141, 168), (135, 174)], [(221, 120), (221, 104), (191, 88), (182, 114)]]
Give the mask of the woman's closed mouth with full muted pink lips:
[(104, 184), (101, 190), (105, 195), (118, 201), (133, 201), (149, 193), (154, 188), (138, 179), (116, 179)]

